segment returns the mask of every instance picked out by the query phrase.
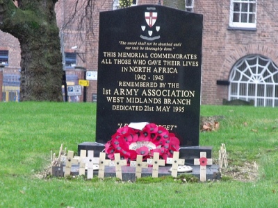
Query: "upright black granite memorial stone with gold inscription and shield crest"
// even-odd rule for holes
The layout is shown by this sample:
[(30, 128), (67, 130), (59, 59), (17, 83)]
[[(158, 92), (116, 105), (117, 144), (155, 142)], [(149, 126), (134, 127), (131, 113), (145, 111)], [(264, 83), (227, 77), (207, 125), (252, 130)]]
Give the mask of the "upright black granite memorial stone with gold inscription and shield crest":
[(97, 142), (149, 122), (199, 146), (202, 19), (158, 5), (100, 12)]

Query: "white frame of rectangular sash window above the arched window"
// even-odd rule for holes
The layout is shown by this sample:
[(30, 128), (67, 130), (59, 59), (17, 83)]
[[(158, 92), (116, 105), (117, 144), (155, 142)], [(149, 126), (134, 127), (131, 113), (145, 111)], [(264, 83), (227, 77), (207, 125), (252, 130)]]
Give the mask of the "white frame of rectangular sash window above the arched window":
[[(238, 11), (234, 11), (234, 4), (239, 6)], [(250, 11), (250, 5), (254, 4), (254, 11)], [(247, 5), (247, 11), (243, 10), (243, 5)], [(231, 0), (230, 3), (230, 16), (229, 26), (231, 28), (256, 28), (256, 11), (257, 11), (257, 0)], [(234, 21), (234, 15), (238, 14), (238, 22)], [(246, 15), (247, 22), (244, 22), (241, 18)], [(250, 15), (254, 15), (254, 22), (250, 21)]]

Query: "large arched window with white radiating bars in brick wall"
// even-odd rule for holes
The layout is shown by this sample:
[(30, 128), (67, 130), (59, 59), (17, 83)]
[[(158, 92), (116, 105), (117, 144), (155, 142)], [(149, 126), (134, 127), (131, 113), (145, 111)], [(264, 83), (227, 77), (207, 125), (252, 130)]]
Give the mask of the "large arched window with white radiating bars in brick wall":
[(229, 100), (278, 107), (278, 67), (272, 60), (261, 55), (240, 59), (231, 69), (229, 82)]

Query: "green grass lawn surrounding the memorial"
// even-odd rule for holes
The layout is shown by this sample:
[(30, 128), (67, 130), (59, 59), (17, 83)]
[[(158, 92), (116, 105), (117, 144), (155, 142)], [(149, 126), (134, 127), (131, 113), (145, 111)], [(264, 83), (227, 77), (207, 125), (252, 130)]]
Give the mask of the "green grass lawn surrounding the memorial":
[(278, 108), (201, 107), (202, 116), (223, 119), (219, 130), (200, 133), (199, 144), (213, 146), (215, 161), (226, 144), (227, 169), (256, 162), (256, 180), (145, 184), (38, 177), (60, 144), (76, 152), (83, 141), (95, 141), (95, 112), (95, 103), (0, 103), (0, 207), (278, 206)]

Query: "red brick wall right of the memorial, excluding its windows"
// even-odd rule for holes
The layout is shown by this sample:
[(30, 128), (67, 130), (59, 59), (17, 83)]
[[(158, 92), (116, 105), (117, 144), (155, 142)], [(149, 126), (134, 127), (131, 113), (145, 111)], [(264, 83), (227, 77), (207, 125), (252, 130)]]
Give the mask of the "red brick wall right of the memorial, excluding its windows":
[(228, 80), (240, 58), (259, 54), (278, 64), (278, 1), (258, 1), (256, 31), (228, 30), (229, 3), (195, 0), (195, 12), (204, 15), (202, 104), (221, 104), (228, 98), (228, 87), (216, 81)]

